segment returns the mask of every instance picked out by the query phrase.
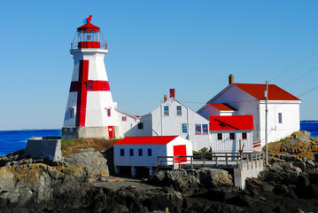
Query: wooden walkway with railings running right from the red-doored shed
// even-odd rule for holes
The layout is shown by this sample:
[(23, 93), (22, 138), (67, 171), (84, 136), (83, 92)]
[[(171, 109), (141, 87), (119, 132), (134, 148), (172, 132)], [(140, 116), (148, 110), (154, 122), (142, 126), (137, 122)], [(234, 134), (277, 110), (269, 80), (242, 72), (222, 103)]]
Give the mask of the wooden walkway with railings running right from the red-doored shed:
[(191, 156), (159, 156), (159, 169), (198, 169), (202, 167), (219, 169), (240, 169), (258, 167), (264, 163), (262, 153), (213, 153)]

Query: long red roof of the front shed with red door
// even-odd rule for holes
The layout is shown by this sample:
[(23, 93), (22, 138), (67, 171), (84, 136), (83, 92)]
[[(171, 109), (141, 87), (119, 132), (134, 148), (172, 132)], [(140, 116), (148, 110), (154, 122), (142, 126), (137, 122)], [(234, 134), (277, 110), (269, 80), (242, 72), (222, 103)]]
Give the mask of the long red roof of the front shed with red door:
[(165, 145), (178, 136), (145, 136), (126, 137), (116, 142), (115, 145)]

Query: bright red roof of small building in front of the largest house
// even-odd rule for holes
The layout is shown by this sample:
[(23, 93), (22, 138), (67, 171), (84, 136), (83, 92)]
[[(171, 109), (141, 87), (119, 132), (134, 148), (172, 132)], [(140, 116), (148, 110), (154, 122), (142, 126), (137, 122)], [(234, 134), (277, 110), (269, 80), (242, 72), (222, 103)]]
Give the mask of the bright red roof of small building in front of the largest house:
[(254, 130), (252, 115), (210, 116), (210, 130)]

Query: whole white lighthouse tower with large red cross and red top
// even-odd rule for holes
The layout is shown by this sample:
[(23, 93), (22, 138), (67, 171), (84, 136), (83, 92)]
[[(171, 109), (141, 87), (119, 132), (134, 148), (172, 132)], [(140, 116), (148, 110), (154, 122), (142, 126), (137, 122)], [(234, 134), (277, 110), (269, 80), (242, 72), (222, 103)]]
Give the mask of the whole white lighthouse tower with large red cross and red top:
[(91, 15), (77, 28), (77, 43), (71, 45), (74, 71), (62, 138), (115, 138), (119, 131), (104, 63), (107, 43), (90, 20)]

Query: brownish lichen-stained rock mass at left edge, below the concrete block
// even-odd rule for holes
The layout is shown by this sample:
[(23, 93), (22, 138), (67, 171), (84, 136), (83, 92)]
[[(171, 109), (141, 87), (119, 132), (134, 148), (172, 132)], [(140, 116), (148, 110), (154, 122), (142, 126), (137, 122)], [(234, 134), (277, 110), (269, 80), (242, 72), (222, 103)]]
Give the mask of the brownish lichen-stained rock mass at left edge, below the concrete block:
[(50, 167), (24, 164), (0, 168), (0, 201), (24, 205), (29, 201), (50, 201), (56, 189), (88, 182), (84, 167)]

